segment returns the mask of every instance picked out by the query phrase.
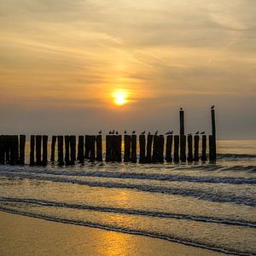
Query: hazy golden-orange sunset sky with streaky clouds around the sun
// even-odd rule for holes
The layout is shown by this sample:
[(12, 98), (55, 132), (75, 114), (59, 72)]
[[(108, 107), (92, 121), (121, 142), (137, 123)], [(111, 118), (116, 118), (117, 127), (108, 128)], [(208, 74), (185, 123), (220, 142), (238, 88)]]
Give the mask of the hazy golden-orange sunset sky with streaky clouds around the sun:
[[(117, 91), (125, 104), (116, 105)], [(255, 0), (0, 0), (0, 133), (256, 138)]]

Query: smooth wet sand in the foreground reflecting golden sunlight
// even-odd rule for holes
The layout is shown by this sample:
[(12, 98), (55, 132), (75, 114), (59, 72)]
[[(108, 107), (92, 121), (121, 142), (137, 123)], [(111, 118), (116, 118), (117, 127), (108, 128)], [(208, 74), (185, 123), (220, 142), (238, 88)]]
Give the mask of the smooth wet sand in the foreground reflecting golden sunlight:
[(135, 236), (0, 212), (0, 255), (225, 255)]

